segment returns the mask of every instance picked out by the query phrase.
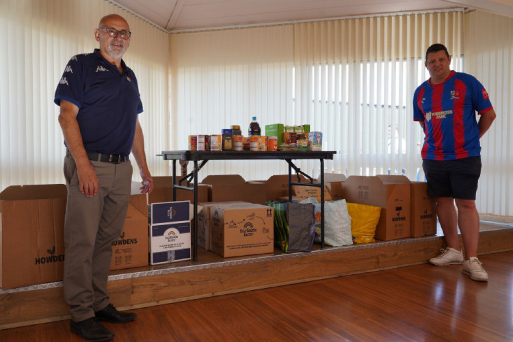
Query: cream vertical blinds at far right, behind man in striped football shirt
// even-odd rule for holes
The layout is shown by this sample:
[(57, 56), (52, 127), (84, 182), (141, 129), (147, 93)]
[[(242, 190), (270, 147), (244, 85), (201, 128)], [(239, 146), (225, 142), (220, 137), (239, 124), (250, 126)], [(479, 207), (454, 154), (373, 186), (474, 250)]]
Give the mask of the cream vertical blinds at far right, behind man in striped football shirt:
[(465, 70), (481, 81), (497, 113), (481, 138), (476, 206), (481, 219), (513, 223), (513, 18), (471, 12), (465, 32)]

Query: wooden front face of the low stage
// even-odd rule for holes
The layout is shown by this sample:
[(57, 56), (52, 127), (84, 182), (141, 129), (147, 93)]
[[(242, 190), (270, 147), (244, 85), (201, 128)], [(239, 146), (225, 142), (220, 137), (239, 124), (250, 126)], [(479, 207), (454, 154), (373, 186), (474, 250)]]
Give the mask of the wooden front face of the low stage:
[[(444, 247), (443, 236), (433, 235), (323, 250), (317, 246), (310, 253), (277, 251), (229, 259), (199, 250), (196, 263), (183, 261), (180, 265), (112, 272), (109, 292), (111, 302), (120, 310), (136, 309), (423, 264)], [(511, 226), (481, 231), (480, 255), (508, 250), (513, 250)], [(2, 291), (0, 312), (0, 329), (70, 318), (62, 283), (35, 290)]]

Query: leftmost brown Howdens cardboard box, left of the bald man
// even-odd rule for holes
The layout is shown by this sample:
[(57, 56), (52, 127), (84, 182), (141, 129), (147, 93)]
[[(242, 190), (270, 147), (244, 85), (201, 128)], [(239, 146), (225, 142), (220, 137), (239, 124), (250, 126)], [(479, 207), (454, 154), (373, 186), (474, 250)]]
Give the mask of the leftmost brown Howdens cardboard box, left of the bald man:
[(10, 186), (0, 193), (0, 286), (63, 279), (64, 184)]

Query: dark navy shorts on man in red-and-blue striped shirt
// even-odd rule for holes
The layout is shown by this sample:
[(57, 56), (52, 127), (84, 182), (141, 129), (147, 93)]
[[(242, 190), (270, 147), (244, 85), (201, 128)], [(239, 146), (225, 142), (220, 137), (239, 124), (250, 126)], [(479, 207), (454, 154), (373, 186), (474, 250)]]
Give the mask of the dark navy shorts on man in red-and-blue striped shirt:
[(427, 193), (433, 197), (476, 199), (481, 157), (456, 160), (422, 160)]

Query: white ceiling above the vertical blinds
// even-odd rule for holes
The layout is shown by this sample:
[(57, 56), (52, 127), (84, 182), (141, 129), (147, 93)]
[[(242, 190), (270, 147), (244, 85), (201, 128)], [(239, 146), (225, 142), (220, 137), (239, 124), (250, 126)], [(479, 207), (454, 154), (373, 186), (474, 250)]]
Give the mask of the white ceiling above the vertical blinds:
[(513, 0), (109, 0), (168, 32), (476, 8), (513, 16)]

